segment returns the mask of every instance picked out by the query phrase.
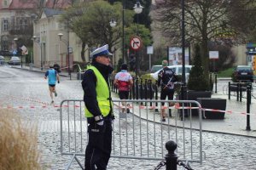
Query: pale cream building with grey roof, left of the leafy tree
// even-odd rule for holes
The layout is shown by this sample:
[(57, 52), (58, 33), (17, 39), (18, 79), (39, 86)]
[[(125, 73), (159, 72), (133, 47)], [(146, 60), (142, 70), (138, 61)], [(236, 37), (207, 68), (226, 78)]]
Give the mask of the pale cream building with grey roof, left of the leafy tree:
[[(59, 64), (61, 68), (73, 69), (73, 63), (82, 62), (81, 42), (75, 33), (67, 30), (67, 24), (61, 22), (60, 9), (44, 8), (40, 19), (34, 21), (34, 65), (48, 68)], [(88, 56), (85, 56), (88, 59)]]

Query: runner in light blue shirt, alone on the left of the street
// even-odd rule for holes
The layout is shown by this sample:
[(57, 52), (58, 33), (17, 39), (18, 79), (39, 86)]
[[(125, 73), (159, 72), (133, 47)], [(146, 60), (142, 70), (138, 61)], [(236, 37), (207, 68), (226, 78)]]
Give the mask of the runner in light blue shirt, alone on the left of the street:
[(55, 89), (56, 81), (60, 83), (60, 77), (57, 71), (55, 71), (52, 65), (49, 66), (49, 70), (45, 72), (44, 79), (48, 77), (48, 84), (49, 84), (49, 96), (51, 98), (51, 104), (54, 103), (53, 93), (55, 93), (55, 97), (57, 97), (57, 92)]

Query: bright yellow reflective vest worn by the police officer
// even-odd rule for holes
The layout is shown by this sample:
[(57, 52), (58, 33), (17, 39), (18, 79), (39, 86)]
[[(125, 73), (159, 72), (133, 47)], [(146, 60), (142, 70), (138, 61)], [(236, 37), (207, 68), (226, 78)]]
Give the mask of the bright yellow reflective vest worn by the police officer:
[[(108, 88), (108, 83), (105, 78), (102, 76), (102, 73), (96, 69), (95, 66), (87, 66), (88, 70), (94, 71), (96, 75), (96, 99), (102, 112), (102, 116), (108, 116), (111, 107), (113, 106), (112, 101), (110, 100), (110, 92)], [(113, 107), (112, 107), (113, 108)], [(93, 117), (90, 111), (87, 110), (85, 106), (84, 110), (86, 117)]]

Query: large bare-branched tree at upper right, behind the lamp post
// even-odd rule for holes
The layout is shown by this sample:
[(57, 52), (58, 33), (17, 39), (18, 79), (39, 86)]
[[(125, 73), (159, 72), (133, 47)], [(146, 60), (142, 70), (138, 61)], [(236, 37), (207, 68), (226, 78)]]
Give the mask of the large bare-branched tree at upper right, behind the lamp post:
[[(246, 11), (247, 4), (253, 0), (185, 0), (185, 2), (185, 37), (187, 42), (201, 43), (202, 61), (208, 72), (208, 42), (225, 44), (244, 42), (245, 37), (241, 36), (240, 32), (242, 28), (234, 27), (242, 18), (237, 18), (234, 10), (236, 7)], [(180, 0), (166, 0), (158, 7), (158, 20), (161, 23), (162, 33), (172, 44), (181, 44), (181, 18)]]

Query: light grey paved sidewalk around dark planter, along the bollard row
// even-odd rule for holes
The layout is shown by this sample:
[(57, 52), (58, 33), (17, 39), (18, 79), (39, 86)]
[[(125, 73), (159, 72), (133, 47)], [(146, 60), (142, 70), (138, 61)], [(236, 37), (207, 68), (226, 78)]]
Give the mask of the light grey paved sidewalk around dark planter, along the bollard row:
[[(230, 133), (230, 134), (237, 134), (242, 136), (250, 136), (250, 137), (256, 137), (256, 115), (255, 115), (255, 99), (252, 101), (251, 105), (251, 131), (246, 130), (247, 126), (247, 116), (244, 115), (247, 111), (247, 105), (245, 99), (242, 102), (237, 102), (235, 96), (231, 96), (231, 99), (228, 99), (227, 95), (224, 94), (212, 94), (212, 98), (222, 98), (227, 99), (227, 106), (226, 111), (231, 111), (232, 113), (225, 113), (223, 120), (216, 120), (216, 119), (203, 119), (202, 120), (202, 130), (205, 132), (216, 132), (216, 133)], [(113, 94), (113, 99), (119, 99), (117, 94)], [(138, 107), (135, 107), (135, 114), (138, 115)], [(176, 112), (176, 113), (175, 113)], [(154, 110), (148, 111), (148, 116), (146, 116), (146, 111), (141, 111), (141, 116), (146, 118), (148, 117), (148, 120), (153, 121), (154, 116), (154, 122), (160, 123), (160, 116), (159, 113), (157, 113), (157, 116), (155, 116)], [(175, 116), (177, 114), (177, 110), (172, 110), (172, 116)], [(178, 114), (177, 114), (178, 115)], [(177, 118), (177, 126), (183, 127), (183, 122), (179, 121), (179, 118)], [(193, 128), (198, 129), (199, 128), (199, 118), (198, 116), (193, 116), (191, 125)], [(164, 124), (171, 124), (175, 125), (175, 119), (169, 118), (169, 120), (166, 120)], [(190, 127), (190, 121), (187, 118), (184, 122), (184, 127)]]

